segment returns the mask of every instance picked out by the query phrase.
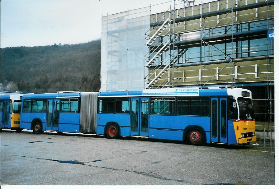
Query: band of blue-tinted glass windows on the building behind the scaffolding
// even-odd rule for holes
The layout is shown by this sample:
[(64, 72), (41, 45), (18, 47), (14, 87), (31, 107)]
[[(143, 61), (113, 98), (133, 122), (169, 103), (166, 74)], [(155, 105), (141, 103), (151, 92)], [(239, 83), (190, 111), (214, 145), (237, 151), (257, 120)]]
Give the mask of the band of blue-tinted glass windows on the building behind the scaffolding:
[[(178, 54), (178, 61), (175, 62), (176, 64), (185, 64), (200, 61), (219, 61), (227, 60), (230, 58), (246, 58), (274, 54), (274, 41), (268, 41), (267, 35), (264, 34), (263, 31), (273, 26), (274, 20), (271, 19), (269, 20), (269, 22), (267, 20), (254, 21), (217, 27), (213, 29), (182, 33), (179, 34), (179, 41), (187, 42), (188, 40), (194, 39), (198, 41), (200, 40), (201, 35), (203, 39), (212, 38), (212, 40), (207, 42), (210, 45), (206, 43), (203, 43), (202, 45), (196, 43), (192, 44), (189, 42), (189, 44), (187, 45), (178, 46), (176, 47), (176, 51), (174, 52), (174, 54), (173, 52), (169, 53), (170, 51), (165, 51), (155, 61), (153, 66), (168, 64), (168, 57), (170, 55), (176, 57), (177, 50), (178, 52), (183, 52), (183, 49), (186, 49), (186, 51)], [(245, 33), (249, 31), (251, 31), (252, 33)], [(223, 35), (232, 33), (234, 34), (233, 39), (224, 37), (222, 38)], [(218, 37), (218, 40), (216, 40), (214, 37)], [(157, 38), (156, 40), (158, 43), (154, 44), (163, 45), (166, 41), (164, 38), (165, 37)], [(151, 53), (150, 58), (152, 58), (155, 54), (156, 52)]]

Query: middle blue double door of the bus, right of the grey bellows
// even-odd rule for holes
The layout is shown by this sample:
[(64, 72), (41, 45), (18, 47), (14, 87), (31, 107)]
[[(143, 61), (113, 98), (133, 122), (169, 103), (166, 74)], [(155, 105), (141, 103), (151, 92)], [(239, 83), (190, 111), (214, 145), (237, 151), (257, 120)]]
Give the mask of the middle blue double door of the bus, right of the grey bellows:
[(149, 136), (149, 99), (131, 99), (130, 126), (130, 135)]

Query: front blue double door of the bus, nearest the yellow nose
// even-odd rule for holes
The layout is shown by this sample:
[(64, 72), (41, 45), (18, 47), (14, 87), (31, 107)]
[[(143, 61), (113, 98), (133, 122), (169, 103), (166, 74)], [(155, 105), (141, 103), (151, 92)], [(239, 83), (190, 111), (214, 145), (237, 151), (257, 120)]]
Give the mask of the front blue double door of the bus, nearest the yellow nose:
[(211, 98), (211, 142), (227, 143), (227, 99)]

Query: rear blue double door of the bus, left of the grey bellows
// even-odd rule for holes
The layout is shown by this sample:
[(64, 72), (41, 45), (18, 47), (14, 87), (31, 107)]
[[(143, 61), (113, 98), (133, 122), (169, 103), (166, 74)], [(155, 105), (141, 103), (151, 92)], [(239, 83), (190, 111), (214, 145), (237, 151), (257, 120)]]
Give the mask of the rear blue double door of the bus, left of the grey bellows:
[(56, 99), (47, 101), (46, 130), (58, 131), (59, 102)]

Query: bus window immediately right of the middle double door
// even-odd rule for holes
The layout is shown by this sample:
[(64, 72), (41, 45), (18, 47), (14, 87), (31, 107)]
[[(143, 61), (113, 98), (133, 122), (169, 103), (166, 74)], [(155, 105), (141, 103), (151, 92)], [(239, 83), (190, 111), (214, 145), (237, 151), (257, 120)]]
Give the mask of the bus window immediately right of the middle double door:
[(175, 113), (174, 97), (151, 98), (151, 114), (174, 115), (174, 113)]

